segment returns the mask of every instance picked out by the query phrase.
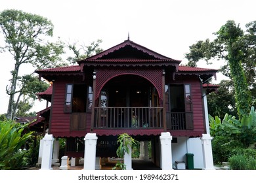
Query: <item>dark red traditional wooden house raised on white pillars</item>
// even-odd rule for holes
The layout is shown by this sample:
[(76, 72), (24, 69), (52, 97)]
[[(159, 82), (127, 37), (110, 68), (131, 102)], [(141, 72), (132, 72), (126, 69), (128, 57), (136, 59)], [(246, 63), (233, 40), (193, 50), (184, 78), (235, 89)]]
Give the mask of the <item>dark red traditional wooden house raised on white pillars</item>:
[(205, 83), (217, 70), (182, 66), (129, 39), (77, 63), (35, 71), (53, 83), (39, 93), (51, 107), (38, 119), (49, 120), (55, 139), (66, 138), (66, 156), (83, 157), (85, 135), (95, 134), (96, 157), (116, 157), (117, 135), (128, 133), (140, 141), (142, 158), (150, 142), (161, 169), (188, 167), (188, 154), (194, 168), (213, 169), (206, 94), (215, 86)]

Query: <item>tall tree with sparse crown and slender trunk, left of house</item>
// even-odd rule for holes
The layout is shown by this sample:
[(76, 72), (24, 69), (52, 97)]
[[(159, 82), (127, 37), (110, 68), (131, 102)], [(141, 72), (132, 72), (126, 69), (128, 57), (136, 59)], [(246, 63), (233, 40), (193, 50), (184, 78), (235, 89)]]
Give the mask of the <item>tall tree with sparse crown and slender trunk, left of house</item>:
[[(46, 41), (53, 37), (53, 24), (50, 20), (21, 10), (3, 10), (0, 13), (0, 27), (5, 39), (5, 46), (0, 46), (0, 51), (8, 51), (14, 58), (12, 78), (6, 88), (10, 95), (7, 118), (12, 120), (20, 97), (28, 94), (23, 86), (20, 90), (17, 88), (19, 82), (26, 81), (26, 76), (19, 75), (20, 67), (26, 63), (36, 69), (66, 65), (60, 58), (64, 53), (64, 44), (61, 41)], [(16, 93), (19, 95), (15, 101)]]

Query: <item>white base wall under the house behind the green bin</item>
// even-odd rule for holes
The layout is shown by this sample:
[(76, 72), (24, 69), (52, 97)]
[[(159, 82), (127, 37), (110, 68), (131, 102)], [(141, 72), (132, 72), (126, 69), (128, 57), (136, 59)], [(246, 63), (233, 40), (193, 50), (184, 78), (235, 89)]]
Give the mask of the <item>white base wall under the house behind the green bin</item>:
[(194, 168), (203, 169), (202, 141), (198, 138), (177, 137), (177, 143), (171, 143), (173, 165), (175, 161), (186, 162), (186, 154), (194, 154)]

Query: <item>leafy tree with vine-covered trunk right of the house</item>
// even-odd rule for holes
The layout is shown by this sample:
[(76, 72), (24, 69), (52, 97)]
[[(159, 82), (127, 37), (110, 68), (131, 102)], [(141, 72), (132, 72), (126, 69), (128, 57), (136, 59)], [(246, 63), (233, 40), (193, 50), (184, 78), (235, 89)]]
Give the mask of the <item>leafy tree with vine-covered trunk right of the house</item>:
[[(230, 76), (234, 82), (234, 92), (238, 116), (249, 114), (251, 105), (251, 91), (249, 86), (255, 82), (255, 45), (256, 45), (256, 22), (246, 25), (247, 34), (228, 20), (219, 31), (215, 33), (214, 41), (198, 41), (190, 46), (190, 53), (186, 54), (188, 65), (196, 66), (200, 59), (209, 61), (212, 58), (224, 59), (227, 64), (223, 67), (225, 75)], [(253, 71), (253, 72), (251, 72)], [(251, 83), (248, 84), (248, 82)]]

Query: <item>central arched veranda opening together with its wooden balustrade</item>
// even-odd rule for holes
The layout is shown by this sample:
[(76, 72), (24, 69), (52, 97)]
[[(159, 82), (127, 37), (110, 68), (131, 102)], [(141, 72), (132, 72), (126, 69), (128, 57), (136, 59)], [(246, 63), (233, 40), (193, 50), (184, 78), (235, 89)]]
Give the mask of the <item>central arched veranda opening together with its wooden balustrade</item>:
[(95, 128), (162, 127), (162, 107), (154, 85), (138, 75), (120, 75), (102, 88)]

